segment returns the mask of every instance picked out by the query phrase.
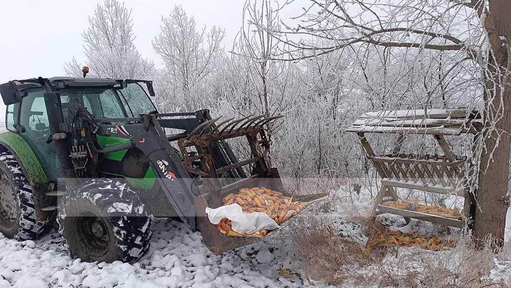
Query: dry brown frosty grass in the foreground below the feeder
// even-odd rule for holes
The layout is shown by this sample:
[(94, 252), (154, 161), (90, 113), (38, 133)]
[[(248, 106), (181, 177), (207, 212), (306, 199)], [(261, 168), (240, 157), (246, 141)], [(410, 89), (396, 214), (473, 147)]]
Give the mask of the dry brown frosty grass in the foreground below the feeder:
[[(288, 230), (296, 254), (308, 277), (331, 285), (378, 287), (505, 287), (486, 277), (494, 267), (495, 246), (486, 241), (476, 249), (469, 237), (458, 239), (450, 251), (419, 248), (379, 248), (364, 255), (365, 247), (339, 236), (328, 219), (307, 219)], [(381, 225), (366, 222), (366, 236), (388, 233)], [(509, 259), (511, 246), (499, 257)]]

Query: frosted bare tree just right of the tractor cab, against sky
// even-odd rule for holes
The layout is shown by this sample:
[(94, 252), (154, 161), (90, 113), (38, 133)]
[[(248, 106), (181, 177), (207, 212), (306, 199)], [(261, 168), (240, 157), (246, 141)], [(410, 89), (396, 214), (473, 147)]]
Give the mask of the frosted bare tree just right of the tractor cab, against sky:
[(161, 21), (161, 32), (154, 39), (153, 48), (165, 62), (165, 85), (174, 96), (193, 102), (190, 97), (196, 96), (192, 94), (198, 85), (215, 69), (225, 32), (217, 27), (209, 33), (205, 28), (197, 30), (195, 19), (180, 6)]

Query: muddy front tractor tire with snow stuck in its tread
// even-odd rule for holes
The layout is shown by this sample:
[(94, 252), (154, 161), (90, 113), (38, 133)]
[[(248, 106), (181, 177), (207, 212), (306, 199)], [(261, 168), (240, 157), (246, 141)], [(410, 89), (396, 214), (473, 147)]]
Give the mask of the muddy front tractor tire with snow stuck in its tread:
[(123, 179), (84, 182), (68, 191), (57, 222), (74, 258), (133, 262), (149, 250), (151, 217)]

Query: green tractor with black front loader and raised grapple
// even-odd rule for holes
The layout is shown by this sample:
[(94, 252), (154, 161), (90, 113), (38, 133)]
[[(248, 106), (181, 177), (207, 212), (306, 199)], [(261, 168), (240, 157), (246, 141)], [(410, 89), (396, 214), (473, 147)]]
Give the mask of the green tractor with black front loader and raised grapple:
[[(0, 94), (8, 130), (0, 135), (0, 232), (8, 238), (37, 239), (58, 224), (73, 257), (130, 262), (149, 248), (151, 218), (173, 217), (221, 253), (261, 239), (221, 234), (206, 207), (240, 188), (284, 192), (268, 167), (264, 128), (281, 116), (160, 114), (147, 80), (39, 77), (1, 84)], [(238, 137), (249, 159), (229, 147)]]

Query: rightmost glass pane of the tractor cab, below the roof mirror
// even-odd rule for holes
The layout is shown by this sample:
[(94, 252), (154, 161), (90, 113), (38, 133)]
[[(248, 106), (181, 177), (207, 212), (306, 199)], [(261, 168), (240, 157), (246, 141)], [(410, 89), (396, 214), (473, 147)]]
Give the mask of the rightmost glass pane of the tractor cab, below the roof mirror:
[(119, 90), (119, 93), (123, 96), (123, 100), (125, 100), (123, 104), (126, 106), (126, 110), (132, 113), (132, 117), (149, 114), (156, 110), (146, 91), (138, 83), (129, 83), (126, 88)]

